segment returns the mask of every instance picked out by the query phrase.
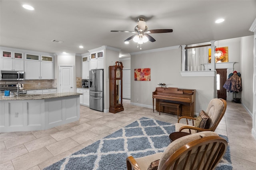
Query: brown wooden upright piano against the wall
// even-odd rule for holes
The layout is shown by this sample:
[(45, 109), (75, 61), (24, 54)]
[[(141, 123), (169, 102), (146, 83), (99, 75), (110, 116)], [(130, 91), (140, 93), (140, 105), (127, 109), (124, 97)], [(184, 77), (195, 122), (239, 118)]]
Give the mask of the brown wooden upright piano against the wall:
[[(196, 100), (196, 90), (194, 89), (179, 89), (179, 88), (162, 88), (157, 87), (152, 94), (153, 112), (154, 99), (156, 99), (156, 110), (159, 111), (159, 102), (171, 102), (181, 104), (181, 115), (194, 117), (194, 102)], [(162, 108), (160, 108), (162, 111)], [(172, 112), (172, 108), (164, 109), (164, 112)]]

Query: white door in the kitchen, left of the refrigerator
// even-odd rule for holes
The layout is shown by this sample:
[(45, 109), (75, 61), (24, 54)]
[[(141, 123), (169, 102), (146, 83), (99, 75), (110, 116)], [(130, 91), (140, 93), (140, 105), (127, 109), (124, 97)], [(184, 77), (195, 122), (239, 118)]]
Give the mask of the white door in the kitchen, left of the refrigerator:
[(74, 92), (74, 66), (59, 66), (60, 93)]

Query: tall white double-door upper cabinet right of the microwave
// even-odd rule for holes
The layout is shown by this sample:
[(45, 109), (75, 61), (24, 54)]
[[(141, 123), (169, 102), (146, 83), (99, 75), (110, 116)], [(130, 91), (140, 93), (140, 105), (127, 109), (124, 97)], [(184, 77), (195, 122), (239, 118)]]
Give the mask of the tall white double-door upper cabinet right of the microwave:
[(26, 80), (53, 80), (54, 62), (51, 56), (25, 54)]

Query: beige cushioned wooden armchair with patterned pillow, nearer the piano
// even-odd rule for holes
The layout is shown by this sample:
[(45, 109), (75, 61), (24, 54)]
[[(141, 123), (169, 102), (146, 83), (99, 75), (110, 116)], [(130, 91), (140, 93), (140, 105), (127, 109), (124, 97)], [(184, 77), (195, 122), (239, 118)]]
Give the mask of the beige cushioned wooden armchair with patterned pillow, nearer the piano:
[[(227, 103), (225, 100), (214, 98), (208, 104), (206, 111), (200, 111), (197, 118), (187, 116), (180, 117), (178, 119), (178, 123), (175, 124), (175, 131), (182, 131), (187, 133), (215, 131), (226, 111), (226, 107)], [(186, 124), (180, 123), (181, 119), (186, 119)], [(190, 124), (188, 122), (190, 122)]]

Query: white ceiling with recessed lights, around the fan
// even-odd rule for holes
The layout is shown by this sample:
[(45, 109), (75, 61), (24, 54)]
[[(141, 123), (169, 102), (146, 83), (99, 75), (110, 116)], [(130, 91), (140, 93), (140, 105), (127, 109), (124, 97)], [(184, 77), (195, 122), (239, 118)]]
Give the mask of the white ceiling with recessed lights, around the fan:
[[(35, 10), (25, 10), (23, 4)], [(151, 33), (156, 41), (144, 43), (143, 51), (190, 45), (253, 35), (249, 28), (256, 18), (256, 0), (1, 0), (0, 46), (82, 54), (108, 45), (128, 56), (141, 51), (132, 40), (124, 44), (134, 34), (110, 30), (133, 31), (140, 16), (148, 29), (173, 29)], [(214, 23), (218, 18), (225, 21)]]

